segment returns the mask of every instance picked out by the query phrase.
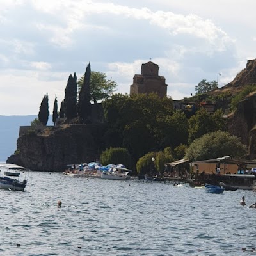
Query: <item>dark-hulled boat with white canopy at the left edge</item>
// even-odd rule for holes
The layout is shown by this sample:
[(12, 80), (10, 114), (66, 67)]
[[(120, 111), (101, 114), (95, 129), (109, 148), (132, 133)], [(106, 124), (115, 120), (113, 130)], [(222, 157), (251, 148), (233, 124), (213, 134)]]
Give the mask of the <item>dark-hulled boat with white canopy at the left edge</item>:
[(19, 181), (20, 172), (16, 172), (17, 170), (24, 172), (24, 169), (16, 164), (0, 164), (0, 170), (4, 170), (4, 176), (0, 177), (0, 189), (24, 191), (27, 180)]

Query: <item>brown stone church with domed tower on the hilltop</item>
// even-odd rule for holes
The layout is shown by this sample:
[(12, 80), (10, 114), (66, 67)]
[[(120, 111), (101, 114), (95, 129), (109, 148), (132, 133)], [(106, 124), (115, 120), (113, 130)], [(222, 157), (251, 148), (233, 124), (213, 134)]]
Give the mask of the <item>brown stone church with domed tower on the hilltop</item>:
[(158, 75), (159, 66), (152, 61), (141, 65), (141, 75), (133, 77), (133, 84), (130, 86), (130, 95), (157, 93), (161, 99), (167, 94), (165, 78)]

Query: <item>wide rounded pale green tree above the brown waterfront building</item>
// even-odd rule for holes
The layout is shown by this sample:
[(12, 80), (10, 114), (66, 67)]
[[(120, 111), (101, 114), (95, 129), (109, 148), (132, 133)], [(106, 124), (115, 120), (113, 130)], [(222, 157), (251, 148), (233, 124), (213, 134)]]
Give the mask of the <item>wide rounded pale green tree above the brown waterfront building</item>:
[(186, 149), (185, 157), (190, 161), (200, 161), (228, 155), (243, 157), (246, 153), (246, 145), (239, 138), (228, 132), (216, 131), (194, 140)]

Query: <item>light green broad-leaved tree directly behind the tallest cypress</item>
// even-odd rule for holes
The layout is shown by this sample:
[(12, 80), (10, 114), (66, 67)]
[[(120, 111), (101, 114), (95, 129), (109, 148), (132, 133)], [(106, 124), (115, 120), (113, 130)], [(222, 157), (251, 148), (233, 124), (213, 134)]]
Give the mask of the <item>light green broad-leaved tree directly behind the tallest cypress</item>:
[[(78, 80), (78, 90), (81, 90), (84, 83), (84, 76)], [(97, 103), (98, 100), (109, 99), (114, 92), (117, 84), (116, 81), (107, 79), (107, 76), (103, 72), (91, 72), (90, 77), (90, 95), (91, 100)]]

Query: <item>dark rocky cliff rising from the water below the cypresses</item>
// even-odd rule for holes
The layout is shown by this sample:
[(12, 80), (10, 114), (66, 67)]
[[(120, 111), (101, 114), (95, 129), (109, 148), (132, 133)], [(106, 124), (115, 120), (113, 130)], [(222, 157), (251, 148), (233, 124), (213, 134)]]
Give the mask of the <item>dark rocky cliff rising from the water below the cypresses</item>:
[(8, 157), (7, 163), (30, 170), (63, 171), (67, 164), (97, 160), (105, 130), (104, 124), (64, 124), (38, 134), (27, 132), (17, 140), (19, 153)]

